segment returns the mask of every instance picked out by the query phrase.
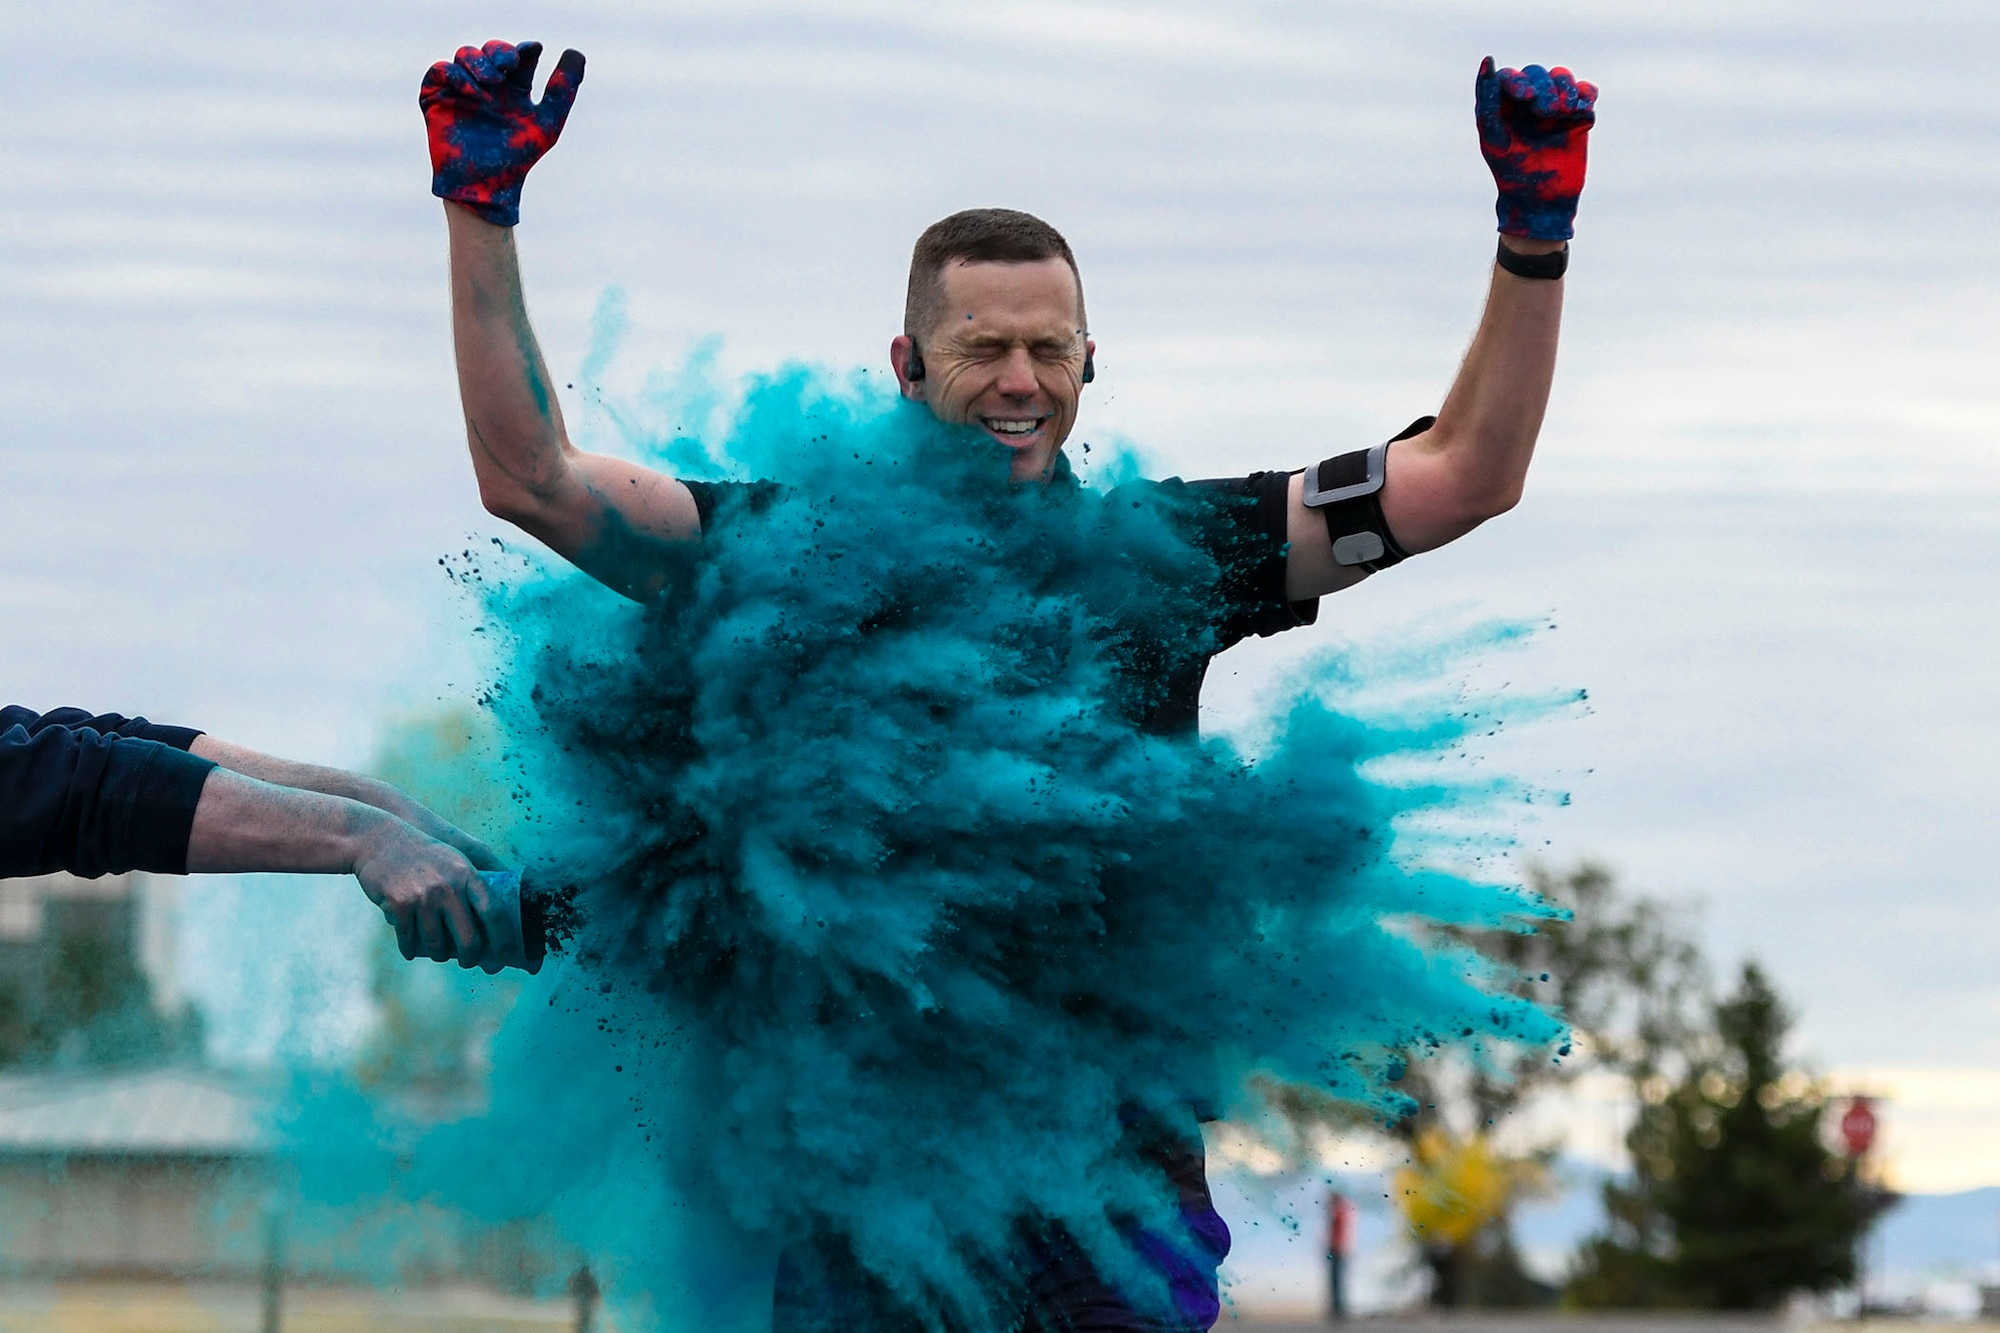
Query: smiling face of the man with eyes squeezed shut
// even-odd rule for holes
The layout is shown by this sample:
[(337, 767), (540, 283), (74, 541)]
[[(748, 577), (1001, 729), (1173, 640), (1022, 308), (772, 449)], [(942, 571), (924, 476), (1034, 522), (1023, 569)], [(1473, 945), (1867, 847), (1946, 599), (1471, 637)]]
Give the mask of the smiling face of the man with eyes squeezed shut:
[(1040, 480), (1076, 426), (1084, 358), (1076, 274), (1060, 258), (944, 268), (944, 314), (918, 344), (924, 378), (906, 374), (910, 338), (890, 356), (904, 392), (938, 420), (978, 426), (1014, 450), (1010, 476)]

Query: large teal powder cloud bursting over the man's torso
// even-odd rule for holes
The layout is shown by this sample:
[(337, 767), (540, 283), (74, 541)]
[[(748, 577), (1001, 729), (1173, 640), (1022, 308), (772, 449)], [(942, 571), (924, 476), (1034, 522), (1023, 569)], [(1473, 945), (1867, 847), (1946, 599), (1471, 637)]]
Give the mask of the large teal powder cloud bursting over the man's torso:
[(1396, 1051), (1556, 1039), (1426, 943), (1548, 915), (1452, 869), (1534, 797), (1458, 747), (1562, 707), (1454, 685), (1520, 626), (1314, 658), (1252, 763), (1148, 725), (1216, 646), (1194, 496), (1008, 486), (866, 378), (656, 394), (612, 412), (638, 450), (780, 484), (652, 606), (486, 576), (516, 851), (578, 925), (414, 1187), (556, 1217), (658, 1327), (758, 1327), (816, 1237), (988, 1329), (1050, 1237), (1170, 1303), (1200, 1237), (1158, 1143), (1252, 1075), (1396, 1115)]

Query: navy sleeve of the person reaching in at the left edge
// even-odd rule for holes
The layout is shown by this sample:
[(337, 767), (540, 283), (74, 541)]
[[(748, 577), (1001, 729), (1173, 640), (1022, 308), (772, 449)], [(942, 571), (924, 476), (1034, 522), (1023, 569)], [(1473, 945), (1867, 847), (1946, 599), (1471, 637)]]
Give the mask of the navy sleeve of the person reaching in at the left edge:
[[(186, 875), (194, 807), (214, 765), (172, 741), (48, 717), (56, 715), (0, 709), (0, 879)], [(94, 719), (78, 713), (78, 721)]]

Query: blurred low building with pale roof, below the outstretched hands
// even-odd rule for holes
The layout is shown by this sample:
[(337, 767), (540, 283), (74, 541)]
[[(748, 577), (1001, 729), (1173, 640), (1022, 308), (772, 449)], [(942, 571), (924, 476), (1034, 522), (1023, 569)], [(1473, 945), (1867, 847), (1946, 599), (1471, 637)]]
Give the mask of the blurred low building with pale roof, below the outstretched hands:
[(282, 1085), (196, 1067), (0, 1075), (0, 1275), (478, 1285), (550, 1293), (580, 1263), (534, 1223), (392, 1187), (326, 1203), (270, 1133)]

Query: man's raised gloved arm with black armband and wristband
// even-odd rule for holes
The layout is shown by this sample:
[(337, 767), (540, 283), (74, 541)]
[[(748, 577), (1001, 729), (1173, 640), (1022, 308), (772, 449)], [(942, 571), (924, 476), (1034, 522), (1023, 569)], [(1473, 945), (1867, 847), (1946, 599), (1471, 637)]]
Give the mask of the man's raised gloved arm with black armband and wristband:
[[(1562, 270), (1596, 94), (1560, 66), (1480, 66), (1480, 150), (1500, 188), (1500, 254), (1486, 312), (1428, 430), (1394, 440), (1378, 460), (1316, 464), (1292, 476), (1292, 600), (1338, 592), (1406, 554), (1436, 550), (1520, 500), (1556, 374)], [(1356, 494), (1328, 502), (1346, 492)], [(1374, 534), (1364, 532), (1370, 524)]]

